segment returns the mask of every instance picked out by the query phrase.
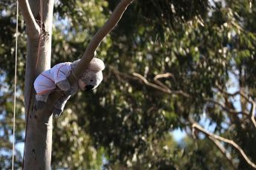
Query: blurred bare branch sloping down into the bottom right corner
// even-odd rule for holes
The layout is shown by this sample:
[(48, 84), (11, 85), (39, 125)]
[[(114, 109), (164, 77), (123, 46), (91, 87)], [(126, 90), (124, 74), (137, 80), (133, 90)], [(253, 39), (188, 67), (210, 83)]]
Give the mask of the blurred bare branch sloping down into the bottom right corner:
[(198, 129), (200, 132), (203, 132), (205, 135), (209, 137), (213, 137), (216, 140), (223, 141), (225, 143), (229, 143), (234, 147), (234, 149), (237, 149), (237, 151), (241, 154), (244, 160), (246, 160), (246, 163), (249, 164), (249, 166), (252, 166), (254, 169), (256, 169), (256, 164), (252, 163), (252, 161), (247, 157), (247, 155), (243, 152), (243, 149), (240, 148), (240, 146), (237, 145), (237, 143), (234, 143), (233, 140), (226, 139), (225, 137), (220, 137), (218, 135), (214, 135), (211, 132), (206, 131), (206, 129), (203, 129), (202, 126), (200, 126), (198, 123), (192, 123), (192, 128)]

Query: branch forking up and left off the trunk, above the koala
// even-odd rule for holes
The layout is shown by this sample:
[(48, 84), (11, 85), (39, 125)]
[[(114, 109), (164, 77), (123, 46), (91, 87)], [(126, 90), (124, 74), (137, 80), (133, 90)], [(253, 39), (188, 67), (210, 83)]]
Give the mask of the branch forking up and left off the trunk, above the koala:
[(36, 19), (33, 16), (33, 13), (30, 9), (30, 4), (27, 0), (18, 0), (19, 7), (22, 11), (22, 16), (27, 25), (27, 36), (29, 38), (39, 38), (40, 27), (36, 24)]

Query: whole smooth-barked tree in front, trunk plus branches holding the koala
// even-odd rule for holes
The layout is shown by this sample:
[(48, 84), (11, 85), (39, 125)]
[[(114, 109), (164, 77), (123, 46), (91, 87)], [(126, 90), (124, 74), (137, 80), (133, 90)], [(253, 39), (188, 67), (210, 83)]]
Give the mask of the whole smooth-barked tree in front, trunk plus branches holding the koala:
[[(25, 75), (25, 112), (26, 112), (26, 141), (24, 152), (24, 169), (50, 169), (51, 147), (52, 147), (52, 109), (54, 103), (62, 95), (54, 92), (47, 100), (47, 106), (36, 111), (35, 91), (33, 89), (33, 81), (40, 72), (50, 68), (50, 50), (51, 50), (51, 33), (53, 20), (53, 0), (42, 0), (42, 20), (45, 24), (46, 33), (37, 33), (38, 25), (35, 18), (39, 15), (40, 0), (19, 0), (22, 8), (22, 15), (27, 24), (27, 59), (26, 59), (26, 75)], [(103, 38), (116, 26), (122, 14), (125, 12), (129, 4), (133, 0), (121, 0), (108, 19), (106, 24), (96, 33), (92, 41), (85, 50), (82, 60), (77, 65), (74, 73), (76, 77), (82, 75), (82, 72), (88, 67), (93, 58), (96, 48), (102, 42)], [(32, 15), (32, 14), (33, 15)], [(30, 32), (31, 31), (31, 32)], [(41, 47), (38, 48), (39, 35), (47, 35), (42, 38)], [(36, 67), (37, 52), (39, 53), (39, 64)], [(76, 82), (73, 74), (69, 77), (70, 84)]]

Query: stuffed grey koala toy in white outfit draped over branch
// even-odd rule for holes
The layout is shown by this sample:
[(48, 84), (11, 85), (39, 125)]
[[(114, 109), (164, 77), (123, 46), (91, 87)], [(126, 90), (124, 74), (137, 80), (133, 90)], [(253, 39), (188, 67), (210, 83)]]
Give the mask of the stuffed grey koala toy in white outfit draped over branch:
[(59, 118), (63, 112), (65, 103), (67, 103), (70, 95), (74, 95), (77, 92), (78, 87), (84, 91), (88, 91), (99, 86), (103, 79), (102, 70), (105, 69), (103, 61), (99, 58), (93, 58), (88, 69), (85, 69), (85, 72), (82, 73), (81, 78), (79, 78), (76, 84), (70, 86), (67, 78), (72, 74), (78, 63), (79, 60), (73, 61), (73, 63), (65, 62), (56, 64), (51, 69), (42, 72), (36, 78), (34, 82), (34, 88), (36, 89), (36, 109), (42, 109), (45, 106), (48, 96), (58, 86), (59, 89), (65, 92), (53, 108), (53, 115)]

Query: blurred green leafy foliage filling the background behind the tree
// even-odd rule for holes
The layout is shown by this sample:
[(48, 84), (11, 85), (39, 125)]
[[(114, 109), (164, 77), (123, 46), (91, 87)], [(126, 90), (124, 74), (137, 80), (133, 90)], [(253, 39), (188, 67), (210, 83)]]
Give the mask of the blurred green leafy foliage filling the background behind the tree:
[[(52, 66), (81, 58), (118, 2), (57, 1)], [(0, 139), (8, 141), (1, 146), (0, 166), (8, 168), (10, 162), (1, 160), (11, 159), (14, 60), (10, 56), (16, 23), (15, 5), (1, 3), (10, 6), (9, 10), (0, 6)], [(255, 13), (256, 7), (250, 9), (246, 0), (134, 1), (96, 51), (106, 64), (102, 84), (93, 92), (74, 95), (62, 118), (54, 120), (53, 169), (232, 169), (206, 136), (196, 134), (197, 140), (190, 136), (191, 118), (198, 122), (206, 118), (214, 126), (212, 132), (234, 140), (256, 161), (251, 144), (255, 129), (249, 119), (206, 100), (237, 109), (233, 98), (217, 90), (230, 89), (231, 82), (255, 97)], [(17, 143), (24, 140), (24, 24), (19, 31)], [(146, 86), (134, 72), (150, 82), (155, 75), (170, 72), (174, 76), (160, 81), (190, 97)], [(242, 111), (249, 112), (239, 100)], [(174, 129), (186, 130), (188, 136), (177, 142), (170, 134)], [(224, 146), (238, 169), (250, 169), (236, 150)], [(22, 159), (17, 159), (20, 166)]]

